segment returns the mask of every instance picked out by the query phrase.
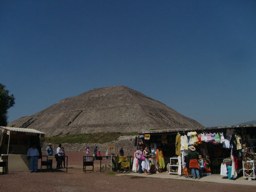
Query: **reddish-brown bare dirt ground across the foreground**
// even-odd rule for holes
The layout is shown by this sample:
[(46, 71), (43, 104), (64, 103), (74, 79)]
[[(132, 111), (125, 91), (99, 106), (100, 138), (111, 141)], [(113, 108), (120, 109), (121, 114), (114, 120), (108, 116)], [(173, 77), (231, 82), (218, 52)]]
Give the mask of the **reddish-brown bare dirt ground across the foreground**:
[[(84, 153), (67, 152), (66, 155), (68, 173), (65, 172), (66, 169), (57, 169), (53, 172), (13, 172), (0, 175), (0, 191), (255, 191), (255, 186), (246, 185), (116, 176), (99, 171), (84, 173)], [(104, 161), (108, 163), (108, 160)]]

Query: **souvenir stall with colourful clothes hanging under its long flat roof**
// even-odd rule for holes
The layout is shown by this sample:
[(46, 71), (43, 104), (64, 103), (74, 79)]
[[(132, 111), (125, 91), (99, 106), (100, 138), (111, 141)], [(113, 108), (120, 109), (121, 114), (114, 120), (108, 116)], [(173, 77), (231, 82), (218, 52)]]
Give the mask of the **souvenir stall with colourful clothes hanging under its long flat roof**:
[[(167, 165), (165, 170), (170, 174), (189, 174), (189, 169), (185, 170), (188, 167), (186, 155), (188, 147), (193, 145), (202, 157), (204, 175), (221, 174), (223, 177), (234, 179), (239, 172), (242, 173), (243, 167), (245, 167), (243, 166), (245, 164), (242, 157), (242, 144), (248, 143), (246, 139), (250, 138), (250, 147), (252, 150), (256, 150), (255, 129), (256, 125), (241, 125), (208, 127), (193, 131), (186, 128), (142, 131), (140, 133), (150, 135), (150, 139), (145, 140), (146, 145), (151, 148), (152, 146), (161, 148), (165, 165)], [(225, 169), (223, 168), (224, 164)], [(248, 170), (255, 170), (255, 163), (250, 166), (249, 164), (246, 164)], [(253, 178), (255, 175), (250, 177)]]

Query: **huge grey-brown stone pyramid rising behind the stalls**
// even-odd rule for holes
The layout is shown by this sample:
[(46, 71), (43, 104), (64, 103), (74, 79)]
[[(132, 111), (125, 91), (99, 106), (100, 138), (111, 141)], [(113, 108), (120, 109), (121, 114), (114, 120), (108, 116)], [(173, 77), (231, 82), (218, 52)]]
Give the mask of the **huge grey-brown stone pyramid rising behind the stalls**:
[(63, 99), (36, 114), (10, 122), (8, 127), (61, 135), (194, 129), (203, 125), (138, 91), (118, 85)]

